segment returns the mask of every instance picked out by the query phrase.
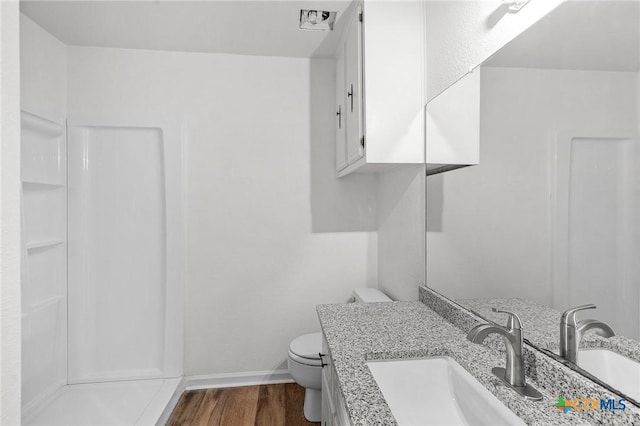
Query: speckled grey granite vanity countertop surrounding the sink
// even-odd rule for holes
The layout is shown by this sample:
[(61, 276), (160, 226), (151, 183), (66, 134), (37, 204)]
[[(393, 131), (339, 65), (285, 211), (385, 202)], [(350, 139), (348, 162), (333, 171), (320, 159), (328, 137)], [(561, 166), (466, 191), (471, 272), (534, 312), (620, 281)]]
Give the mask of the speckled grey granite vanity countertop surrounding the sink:
[(465, 332), (422, 302), (319, 305), (317, 312), (354, 425), (396, 424), (369, 372), (367, 360), (443, 355), (455, 359), (528, 424), (640, 424), (637, 410), (564, 414), (555, 409), (558, 387), (571, 390), (563, 393), (567, 399), (606, 395), (591, 393), (591, 388), (586, 390), (582, 387), (587, 385), (584, 377), (559, 364), (539, 360), (544, 355), (537, 351), (526, 354), (529, 382), (543, 392), (544, 399), (538, 402), (523, 399), (491, 373), (492, 367), (504, 366), (502, 353), (469, 342)]

